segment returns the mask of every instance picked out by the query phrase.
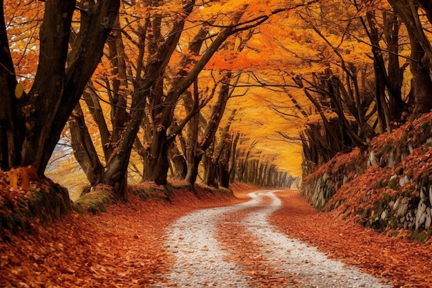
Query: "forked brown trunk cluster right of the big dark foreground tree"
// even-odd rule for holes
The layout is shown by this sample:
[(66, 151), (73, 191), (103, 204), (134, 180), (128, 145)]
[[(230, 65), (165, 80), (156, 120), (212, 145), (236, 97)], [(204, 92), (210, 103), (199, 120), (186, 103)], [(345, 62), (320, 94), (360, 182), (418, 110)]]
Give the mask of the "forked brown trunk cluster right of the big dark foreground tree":
[[(110, 99), (110, 122), (112, 131), (108, 130), (107, 119), (101, 110), (98, 95), (95, 95), (94, 86), (88, 84), (88, 91), (84, 93), (84, 101), (88, 106), (95, 123), (101, 134), (101, 147), (104, 151), (104, 162), (101, 164), (95, 144), (88, 133), (84, 122), (84, 114), (77, 105), (70, 121), (72, 146), (75, 146), (75, 157), (86, 173), (90, 185), (103, 183), (112, 186), (115, 196), (121, 200), (127, 200), (127, 172), (130, 152), (136, 139), (139, 123), (144, 115), (144, 104), (132, 99), (131, 114), (126, 112), (127, 104), (124, 90), (120, 86), (127, 87), (126, 61), (124, 59), (124, 44), (119, 31), (119, 19), (115, 19), (116, 32), (108, 39), (108, 59), (111, 64), (111, 75), (117, 75), (112, 81), (106, 80), (107, 94)], [(145, 97), (144, 93), (135, 97)], [(129, 121), (130, 120), (130, 121)]]

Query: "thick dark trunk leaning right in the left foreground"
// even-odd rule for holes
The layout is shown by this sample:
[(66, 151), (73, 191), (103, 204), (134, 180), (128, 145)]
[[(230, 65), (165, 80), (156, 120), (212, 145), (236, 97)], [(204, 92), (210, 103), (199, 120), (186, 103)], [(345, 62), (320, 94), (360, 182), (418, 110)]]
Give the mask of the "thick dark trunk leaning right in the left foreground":
[[(59, 2), (62, 3), (64, 1)], [(54, 15), (48, 16), (48, 18), (66, 15), (66, 13), (72, 14), (73, 10), (75, 10), (75, 1), (72, 2), (70, 12), (63, 12), (61, 14), (58, 10), (54, 10), (52, 11)], [(50, 97), (50, 95), (56, 94), (53, 93), (54, 91), (51, 90), (51, 87), (46, 86), (46, 83), (47, 81), (54, 82), (50, 75), (55, 77), (55, 73), (49, 67), (56, 61), (52, 58), (51, 52), (59, 48), (57, 33), (50, 29), (41, 32), (43, 34), (41, 38), (48, 38), (48, 43), (51, 44), (42, 45), (43, 41), (41, 41), (40, 55), (43, 56), (39, 59), (35, 84), (29, 93), (30, 97), (36, 98), (35, 113), (27, 121), (30, 126), (32, 126), (32, 123), (35, 123), (35, 128), (30, 129), (32, 131), (26, 132), (26, 135), (30, 135), (30, 137), (28, 137), (28, 141), (24, 141), (23, 143), (23, 159), (21, 163), (34, 164), (39, 167), (40, 173), (48, 164), (48, 160), (59, 140), (61, 131), (69, 115), (72, 113), (75, 104), (79, 101), (88, 79), (90, 79), (97, 64), (99, 64), (104, 43), (110, 34), (112, 23), (114, 23), (117, 17), (119, 0), (100, 1), (95, 6), (90, 5), (88, 10), (89, 12), (81, 14), (81, 28), (68, 55), (68, 68), (66, 69), (63, 88), (61, 89), (61, 93), (54, 97)], [(58, 27), (55, 26), (58, 24), (50, 21), (47, 23), (49, 27)], [(104, 23), (104, 25), (101, 25), (101, 23)], [(46, 27), (48, 28), (48, 26)], [(68, 36), (69, 32), (66, 35)], [(67, 51), (68, 41), (65, 39), (65, 42), (61, 49)], [(66, 55), (62, 54), (61, 57), (65, 57), (64, 60), (66, 60)], [(64, 60), (61, 63), (64, 64)], [(56, 85), (54, 88), (57, 87)], [(55, 107), (58, 107), (58, 109)], [(37, 137), (32, 137), (33, 134), (37, 133), (39, 133)], [(41, 143), (43, 144), (40, 145)], [(37, 155), (40, 155), (40, 158)]]

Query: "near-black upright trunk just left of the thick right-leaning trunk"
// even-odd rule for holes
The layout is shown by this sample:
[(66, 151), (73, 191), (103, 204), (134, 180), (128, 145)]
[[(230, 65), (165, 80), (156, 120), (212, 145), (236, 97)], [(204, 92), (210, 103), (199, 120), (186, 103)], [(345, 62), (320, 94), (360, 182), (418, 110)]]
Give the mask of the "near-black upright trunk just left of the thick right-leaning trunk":
[[(57, 116), (57, 111), (53, 108), (58, 106), (63, 95), (68, 93), (65, 91), (67, 82), (65, 64), (68, 57), (70, 25), (74, 9), (75, 1), (58, 0), (46, 3), (40, 28), (39, 66), (26, 101), (26, 104), (29, 105), (24, 117), (26, 137), (21, 149), (22, 164), (32, 164), (37, 167), (39, 173), (45, 170), (48, 158), (60, 137), (60, 129), (56, 129), (53, 133), (52, 126), (56, 125), (55, 119), (62, 115)], [(66, 17), (61, 19), (63, 17), (59, 15), (66, 15)], [(80, 92), (82, 93), (83, 90)], [(79, 97), (77, 101), (78, 99)], [(77, 101), (70, 109), (66, 119)], [(65, 123), (62, 123), (63, 126)], [(47, 146), (52, 146), (52, 149), (49, 149), (49, 155), (45, 152)]]

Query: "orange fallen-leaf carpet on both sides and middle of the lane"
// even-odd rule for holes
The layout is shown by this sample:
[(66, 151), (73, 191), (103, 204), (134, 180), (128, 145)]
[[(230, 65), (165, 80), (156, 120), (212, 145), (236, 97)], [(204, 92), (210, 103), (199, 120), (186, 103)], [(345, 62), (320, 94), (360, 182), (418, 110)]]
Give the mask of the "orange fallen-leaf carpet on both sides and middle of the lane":
[[(199, 209), (226, 207), (251, 199), (248, 195), (253, 191), (251, 187), (233, 186), (233, 189), (236, 198), (184, 191), (176, 193), (172, 203), (159, 199), (142, 201), (130, 195), (128, 203), (111, 205), (100, 215), (70, 213), (44, 226), (35, 223), (33, 233), (14, 237), (10, 243), (0, 242), (0, 287), (184, 287), (185, 284), (173, 281), (179, 267), (184, 267), (189, 275), (195, 271), (193, 263), (178, 265), (177, 258), (181, 250), (190, 254), (195, 251), (192, 247), (185, 250), (181, 242), (173, 242), (185, 239), (176, 234), (178, 231), (175, 233), (176, 229), (179, 233), (192, 231), (187, 221), (186, 227), (178, 226), (177, 222), (187, 220)], [(288, 272), (282, 269), (290, 266), (271, 267), (271, 262), (291, 262), (288, 256), (284, 261), (271, 254), (277, 248), (275, 244), (257, 244), (258, 238), (271, 231), (282, 234), (282, 242), (297, 241), (286, 240), (285, 236), (302, 240), (306, 247), (317, 247), (328, 258), (355, 265), (361, 271), (391, 282), (394, 287), (432, 287), (430, 244), (389, 237), (365, 230), (350, 219), (342, 220), (335, 213), (316, 211), (297, 191), (281, 191), (275, 195), (282, 206), (266, 212), (268, 223), (257, 224), (250, 215), (257, 209), (265, 210), (263, 207), (271, 202), (270, 196), (259, 200), (257, 207), (230, 208), (228, 213), (214, 218), (211, 232), (224, 251), (223, 260), (243, 267), (239, 281), (246, 279), (249, 285), (244, 287), (317, 287), (311, 282), (304, 284), (300, 279), (302, 271), (288, 271), (291, 275), (286, 275)], [(240, 226), (244, 221), (249, 226)], [(206, 234), (208, 227), (202, 228), (196, 233)], [(270, 230), (259, 236), (253, 235), (251, 229)], [(189, 236), (186, 234), (186, 238)], [(202, 250), (213, 249), (210, 242)], [(301, 250), (302, 254), (308, 248), (291, 249)], [(270, 262), (264, 259), (268, 256)], [(295, 265), (304, 267), (305, 264), (308, 267), (317, 264), (319, 268), (321, 265), (314, 263), (314, 258)], [(236, 267), (232, 270), (236, 271)], [(217, 282), (197, 285), (191, 287), (228, 286)]]

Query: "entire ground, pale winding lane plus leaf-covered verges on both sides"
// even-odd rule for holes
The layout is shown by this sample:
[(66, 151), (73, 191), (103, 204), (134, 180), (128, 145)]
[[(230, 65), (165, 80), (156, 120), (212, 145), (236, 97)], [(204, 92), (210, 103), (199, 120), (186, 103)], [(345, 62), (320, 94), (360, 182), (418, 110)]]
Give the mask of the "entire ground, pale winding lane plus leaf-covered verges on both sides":
[(32, 223), (0, 241), (0, 287), (432, 287), (429, 244), (316, 211), (298, 191), (234, 189), (132, 194), (100, 215)]

